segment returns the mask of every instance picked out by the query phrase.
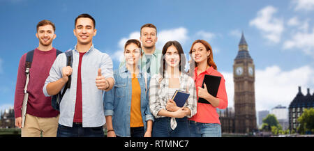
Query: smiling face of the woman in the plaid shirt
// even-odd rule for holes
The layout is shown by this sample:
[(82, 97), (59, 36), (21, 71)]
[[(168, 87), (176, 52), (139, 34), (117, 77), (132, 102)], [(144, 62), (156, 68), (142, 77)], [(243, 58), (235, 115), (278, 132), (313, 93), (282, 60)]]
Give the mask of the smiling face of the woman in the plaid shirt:
[(179, 67), (180, 63), (180, 54), (174, 45), (168, 47), (165, 53), (165, 61), (170, 67)]

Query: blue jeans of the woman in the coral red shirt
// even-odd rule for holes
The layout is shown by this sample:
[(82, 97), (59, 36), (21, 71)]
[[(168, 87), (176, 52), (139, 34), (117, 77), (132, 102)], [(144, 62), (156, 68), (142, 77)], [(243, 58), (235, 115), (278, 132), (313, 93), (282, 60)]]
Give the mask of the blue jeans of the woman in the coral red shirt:
[(202, 123), (189, 120), (191, 137), (221, 137), (221, 126), (217, 123)]

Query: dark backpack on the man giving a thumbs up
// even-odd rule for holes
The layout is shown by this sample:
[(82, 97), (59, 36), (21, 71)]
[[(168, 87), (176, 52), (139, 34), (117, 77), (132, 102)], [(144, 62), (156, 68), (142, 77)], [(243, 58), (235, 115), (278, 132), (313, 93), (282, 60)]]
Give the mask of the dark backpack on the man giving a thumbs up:
[[(66, 66), (72, 67), (73, 52), (70, 50), (70, 51), (66, 51), (65, 54), (66, 54)], [(60, 90), (60, 92), (57, 95), (52, 95), (51, 106), (53, 109), (60, 111), (60, 103), (61, 103), (62, 97), (66, 93), (66, 90), (68, 90), (68, 88), (70, 88), (70, 86), (71, 86), (71, 75), (68, 77), (68, 81), (64, 85), (62, 93)]]

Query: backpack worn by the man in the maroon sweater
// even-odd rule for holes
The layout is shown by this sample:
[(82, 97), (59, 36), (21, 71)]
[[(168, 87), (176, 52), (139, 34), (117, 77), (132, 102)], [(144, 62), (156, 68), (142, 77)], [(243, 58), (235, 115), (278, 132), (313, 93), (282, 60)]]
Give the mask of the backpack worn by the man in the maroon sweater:
[[(25, 86), (24, 86), (24, 99), (23, 99), (23, 104), (22, 104), (22, 127), (24, 127), (24, 122), (25, 122), (25, 115), (26, 115), (26, 111), (27, 111), (27, 102), (29, 99), (29, 93), (27, 93), (27, 86), (29, 85), (29, 70), (31, 69), (31, 62), (33, 62), (33, 52), (35, 50), (31, 50), (27, 52), (27, 58), (25, 61), (25, 74), (27, 76), (26, 82), (25, 82)], [(59, 51), (57, 49), (56, 51), (56, 58), (59, 54), (61, 54), (62, 51)]]

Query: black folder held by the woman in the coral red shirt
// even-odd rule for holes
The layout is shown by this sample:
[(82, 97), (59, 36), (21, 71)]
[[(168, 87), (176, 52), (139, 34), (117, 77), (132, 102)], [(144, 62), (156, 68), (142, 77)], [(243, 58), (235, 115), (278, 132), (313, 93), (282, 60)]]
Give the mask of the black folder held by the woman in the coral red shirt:
[[(205, 83), (207, 86), (208, 93), (213, 95), (214, 97), (217, 97), (220, 80), (221, 80), (221, 77), (205, 74), (205, 77), (202, 83), (202, 88), (204, 88), (204, 83)], [(197, 102), (211, 104), (210, 102), (208, 102), (202, 97), (199, 97)]]

